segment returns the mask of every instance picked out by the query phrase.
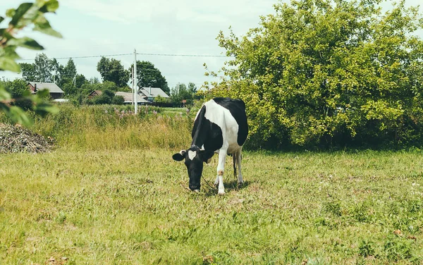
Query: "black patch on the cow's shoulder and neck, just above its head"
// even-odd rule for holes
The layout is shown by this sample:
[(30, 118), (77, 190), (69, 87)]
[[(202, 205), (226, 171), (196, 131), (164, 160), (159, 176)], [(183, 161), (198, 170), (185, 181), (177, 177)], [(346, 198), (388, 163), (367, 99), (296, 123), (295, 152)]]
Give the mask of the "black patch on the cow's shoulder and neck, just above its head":
[(216, 151), (217, 149), (221, 149), (223, 145), (222, 129), (215, 123), (207, 120), (204, 117), (205, 114), (206, 106), (202, 106), (192, 128), (192, 145), (200, 148), (204, 145), (204, 149)]

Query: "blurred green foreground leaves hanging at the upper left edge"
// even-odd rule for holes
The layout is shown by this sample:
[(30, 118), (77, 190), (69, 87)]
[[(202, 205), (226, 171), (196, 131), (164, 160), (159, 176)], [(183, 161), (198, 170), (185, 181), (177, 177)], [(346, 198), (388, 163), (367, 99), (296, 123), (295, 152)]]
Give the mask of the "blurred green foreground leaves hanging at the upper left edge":
[[(20, 58), (16, 53), (18, 47), (44, 49), (34, 39), (16, 37), (23, 28), (32, 26), (33, 30), (61, 37), (59, 32), (51, 28), (49, 21), (44, 16), (45, 13), (54, 12), (57, 8), (59, 8), (59, 2), (56, 0), (36, 0), (35, 3), (20, 4), (18, 8), (6, 11), (6, 17), (9, 18), (8, 27), (0, 27), (0, 70), (20, 71), (20, 66), (16, 63), (16, 59)], [(5, 18), (0, 16), (0, 23), (4, 20)], [(0, 111), (4, 111), (13, 122), (30, 125), (31, 119), (20, 106), (16, 105), (22, 98), (16, 97), (16, 94), (12, 96), (10, 90), (10, 88), (0, 85)], [(32, 103), (31, 109), (41, 115), (55, 111), (51, 105), (43, 101), (43, 94), (44, 92), (40, 92), (38, 97), (25, 95), (25, 100)]]

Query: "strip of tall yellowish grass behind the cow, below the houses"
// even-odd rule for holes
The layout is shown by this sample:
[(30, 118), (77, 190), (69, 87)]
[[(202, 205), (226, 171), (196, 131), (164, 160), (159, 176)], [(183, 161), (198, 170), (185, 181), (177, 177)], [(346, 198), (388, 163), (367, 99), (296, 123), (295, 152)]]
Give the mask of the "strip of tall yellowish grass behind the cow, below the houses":
[(71, 150), (178, 149), (190, 142), (193, 115), (148, 106), (135, 115), (128, 107), (64, 105), (59, 113), (35, 118), (33, 130)]

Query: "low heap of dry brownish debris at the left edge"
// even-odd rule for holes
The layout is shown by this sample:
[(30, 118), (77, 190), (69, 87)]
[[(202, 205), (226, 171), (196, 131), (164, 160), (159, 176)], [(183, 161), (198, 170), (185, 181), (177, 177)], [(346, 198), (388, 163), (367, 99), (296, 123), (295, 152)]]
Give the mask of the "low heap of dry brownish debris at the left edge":
[(0, 154), (50, 152), (53, 142), (52, 138), (46, 139), (20, 125), (0, 123)]

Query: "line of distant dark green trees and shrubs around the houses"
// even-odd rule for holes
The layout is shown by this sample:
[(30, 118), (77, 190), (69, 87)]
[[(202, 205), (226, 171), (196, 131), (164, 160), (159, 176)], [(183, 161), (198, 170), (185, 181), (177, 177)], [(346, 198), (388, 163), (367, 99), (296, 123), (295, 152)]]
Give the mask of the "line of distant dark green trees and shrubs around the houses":
[[(123, 104), (123, 97), (114, 96), (114, 92), (132, 92), (133, 65), (125, 69), (121, 61), (115, 58), (102, 57), (97, 63), (101, 81), (98, 78), (88, 79), (78, 73), (72, 58), (65, 65), (61, 65), (56, 58), (50, 59), (46, 54), (37, 54), (34, 63), (20, 63), (20, 69), (21, 80), (1, 81), (13, 94), (21, 95), (21, 92), (27, 89), (27, 82), (54, 82), (61, 87), (64, 97), (74, 104)], [(192, 82), (169, 88), (161, 71), (149, 61), (137, 61), (137, 86), (159, 87), (168, 94), (169, 98), (154, 99), (152, 103), (159, 106), (190, 105), (197, 97), (197, 86)], [(90, 98), (89, 95), (94, 90), (103, 93)]]

